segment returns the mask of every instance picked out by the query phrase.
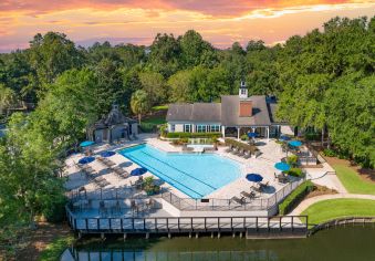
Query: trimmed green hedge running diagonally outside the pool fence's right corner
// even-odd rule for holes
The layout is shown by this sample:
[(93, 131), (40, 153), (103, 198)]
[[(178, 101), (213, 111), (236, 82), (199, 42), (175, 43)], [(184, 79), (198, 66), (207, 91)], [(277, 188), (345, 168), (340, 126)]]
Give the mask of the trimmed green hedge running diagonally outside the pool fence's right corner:
[(279, 215), (289, 213), (313, 189), (314, 185), (310, 180), (301, 184), (279, 205)]

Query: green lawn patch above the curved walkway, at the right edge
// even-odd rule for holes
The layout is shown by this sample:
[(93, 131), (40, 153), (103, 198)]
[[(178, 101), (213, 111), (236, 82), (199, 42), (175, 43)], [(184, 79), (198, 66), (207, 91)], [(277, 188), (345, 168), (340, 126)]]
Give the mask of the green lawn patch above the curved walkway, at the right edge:
[(350, 194), (375, 195), (375, 184), (363, 180), (360, 175), (345, 165), (333, 165), (337, 177)]

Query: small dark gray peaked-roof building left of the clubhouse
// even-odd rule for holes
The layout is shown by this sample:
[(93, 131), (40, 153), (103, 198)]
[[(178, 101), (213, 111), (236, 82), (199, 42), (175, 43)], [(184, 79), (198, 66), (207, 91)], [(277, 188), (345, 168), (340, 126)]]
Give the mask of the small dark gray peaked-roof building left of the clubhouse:
[(88, 139), (95, 143), (132, 139), (135, 135), (138, 135), (138, 123), (125, 117), (118, 105), (113, 105), (111, 112), (93, 124), (87, 132)]

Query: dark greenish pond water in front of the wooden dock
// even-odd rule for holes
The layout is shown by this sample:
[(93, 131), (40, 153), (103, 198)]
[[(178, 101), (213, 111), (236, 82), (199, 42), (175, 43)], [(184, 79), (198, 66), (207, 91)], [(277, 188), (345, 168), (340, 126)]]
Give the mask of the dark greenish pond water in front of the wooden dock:
[[(67, 249), (72, 260), (375, 260), (375, 227), (346, 227), (320, 231), (308, 239), (247, 240), (176, 238), (84, 238)], [(73, 258), (75, 257), (75, 258)]]

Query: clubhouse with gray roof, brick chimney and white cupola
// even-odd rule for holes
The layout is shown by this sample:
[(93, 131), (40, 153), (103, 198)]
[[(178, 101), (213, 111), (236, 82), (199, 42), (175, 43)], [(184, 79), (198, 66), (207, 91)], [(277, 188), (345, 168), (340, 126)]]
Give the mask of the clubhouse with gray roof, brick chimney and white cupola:
[(275, 137), (285, 123), (274, 118), (277, 101), (265, 95), (248, 96), (241, 82), (238, 95), (222, 95), (221, 103), (171, 104), (167, 113), (168, 132), (221, 133), (240, 138), (254, 132), (259, 137)]

